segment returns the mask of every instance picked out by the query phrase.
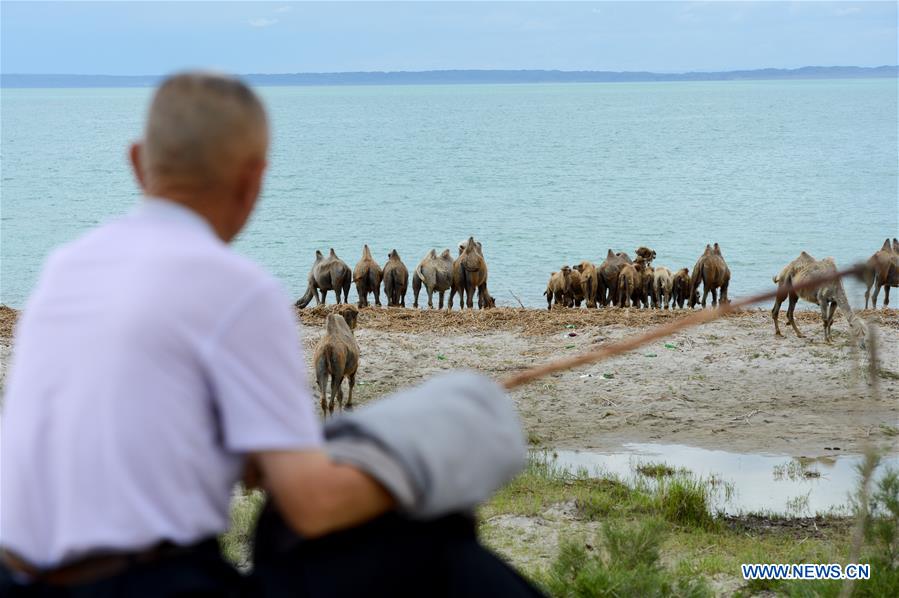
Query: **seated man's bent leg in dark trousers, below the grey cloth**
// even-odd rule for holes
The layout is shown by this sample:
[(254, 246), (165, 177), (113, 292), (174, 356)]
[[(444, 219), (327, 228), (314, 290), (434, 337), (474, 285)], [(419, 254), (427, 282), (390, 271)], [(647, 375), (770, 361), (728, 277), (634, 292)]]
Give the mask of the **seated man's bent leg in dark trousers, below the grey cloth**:
[(387, 514), (316, 540), (294, 534), (266, 508), (256, 528), (252, 594), (350, 596), (540, 596), (481, 546), (474, 521), (452, 515), (410, 521)]

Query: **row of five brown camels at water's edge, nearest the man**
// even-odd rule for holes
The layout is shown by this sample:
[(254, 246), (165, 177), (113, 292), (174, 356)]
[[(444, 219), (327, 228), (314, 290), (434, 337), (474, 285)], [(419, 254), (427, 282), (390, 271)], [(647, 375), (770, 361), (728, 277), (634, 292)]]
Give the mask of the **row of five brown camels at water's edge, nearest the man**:
[[(387, 256), (381, 267), (372, 257), (368, 245), (362, 248), (362, 258), (350, 271), (346, 262), (337, 257), (334, 249), (328, 257), (321, 251), (315, 252), (315, 263), (309, 271), (306, 292), (300, 297), (296, 306), (304, 308), (315, 299), (317, 305), (327, 302), (328, 291), (334, 291), (337, 303), (349, 303), (350, 285), (356, 284), (359, 295), (359, 307), (369, 305), (368, 296), (374, 295), (375, 305), (381, 305), (381, 285), (387, 297), (388, 307), (405, 307), (406, 291), (409, 288), (409, 269), (400, 258), (396, 249)], [(418, 307), (418, 296), (424, 286), (428, 295), (428, 307), (434, 307), (434, 293), (438, 294), (439, 307), (443, 309), (443, 300), (449, 291), (447, 306), (453, 308), (453, 298), (459, 295), (459, 307), (474, 306), (477, 295), (478, 307), (481, 309), (494, 307), (496, 301), (487, 290), (487, 262), (484, 259), (483, 247), (474, 237), (459, 243), (459, 254), (453, 259), (450, 250), (440, 255), (432, 249), (412, 271), (412, 292), (415, 297), (413, 307)], [(341, 298), (342, 294), (342, 298)]]

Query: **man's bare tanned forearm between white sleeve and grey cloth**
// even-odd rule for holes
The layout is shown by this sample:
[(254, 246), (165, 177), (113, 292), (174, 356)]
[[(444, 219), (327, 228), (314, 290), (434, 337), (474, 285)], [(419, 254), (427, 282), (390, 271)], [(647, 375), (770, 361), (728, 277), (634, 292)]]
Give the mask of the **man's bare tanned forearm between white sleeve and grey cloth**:
[(281, 515), (307, 538), (353, 527), (396, 506), (374, 478), (319, 450), (263, 451), (251, 459)]

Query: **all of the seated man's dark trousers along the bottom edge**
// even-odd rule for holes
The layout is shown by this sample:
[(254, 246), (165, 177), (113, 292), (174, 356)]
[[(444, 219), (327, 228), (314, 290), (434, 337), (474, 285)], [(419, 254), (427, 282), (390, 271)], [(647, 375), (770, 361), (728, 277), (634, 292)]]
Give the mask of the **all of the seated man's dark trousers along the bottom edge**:
[(134, 565), (74, 587), (21, 585), (0, 566), (0, 597), (94, 596), (540, 596), (483, 546), (468, 517), (415, 522), (395, 514), (315, 540), (294, 534), (266, 507), (254, 570), (242, 577), (205, 542), (196, 550)]

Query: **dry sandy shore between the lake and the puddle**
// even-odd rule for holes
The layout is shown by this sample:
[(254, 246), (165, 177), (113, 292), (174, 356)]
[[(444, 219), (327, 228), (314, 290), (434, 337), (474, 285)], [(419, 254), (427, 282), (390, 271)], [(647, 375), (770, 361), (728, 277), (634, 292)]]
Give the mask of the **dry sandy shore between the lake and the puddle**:
[[(331, 309), (298, 312), (307, 360)], [(356, 402), (450, 369), (502, 378), (684, 313), (365, 309), (357, 330), (362, 356)], [(0, 308), (0, 382), (16, 315)], [(630, 442), (653, 442), (819, 456), (859, 452), (871, 441), (897, 452), (899, 311), (862, 315), (878, 323), (877, 393), (864, 370), (867, 356), (851, 346), (845, 321), (835, 323), (835, 342), (828, 345), (817, 313), (799, 314), (806, 333), (800, 339), (792, 331), (776, 338), (767, 312), (748, 311), (512, 396), (538, 446), (615, 451)]]

